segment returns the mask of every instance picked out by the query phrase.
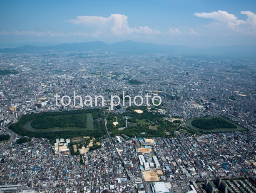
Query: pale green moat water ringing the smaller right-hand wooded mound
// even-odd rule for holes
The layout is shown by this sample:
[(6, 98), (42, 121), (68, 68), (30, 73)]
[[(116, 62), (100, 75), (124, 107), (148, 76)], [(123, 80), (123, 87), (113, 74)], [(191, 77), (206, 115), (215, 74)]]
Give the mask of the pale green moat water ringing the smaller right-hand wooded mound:
[(214, 129), (200, 129), (198, 127), (194, 127), (191, 122), (193, 120), (196, 120), (196, 119), (189, 119), (189, 120), (186, 120), (186, 127), (188, 128), (191, 128), (191, 129), (194, 129), (195, 131), (202, 131), (203, 133), (221, 133), (221, 132), (235, 132), (235, 131), (247, 131), (248, 129), (244, 128), (244, 127), (241, 127), (240, 125), (237, 125), (235, 124), (234, 122), (231, 122), (230, 120), (227, 120), (225, 119), (224, 117), (221, 117), (221, 116), (214, 116), (214, 117), (205, 117), (204, 119), (212, 119), (212, 118), (222, 118), (224, 119), (226, 122), (229, 122), (233, 125), (236, 126), (236, 128), (214, 128)]

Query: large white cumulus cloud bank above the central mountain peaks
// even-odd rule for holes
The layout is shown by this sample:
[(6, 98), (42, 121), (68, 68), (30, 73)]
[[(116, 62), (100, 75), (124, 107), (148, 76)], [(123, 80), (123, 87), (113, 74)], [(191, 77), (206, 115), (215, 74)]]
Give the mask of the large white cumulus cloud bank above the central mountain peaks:
[(128, 17), (122, 14), (111, 14), (109, 17), (101, 16), (77, 16), (75, 19), (67, 20), (73, 24), (93, 27), (100, 32), (127, 35), (127, 34), (160, 34), (157, 29), (148, 26), (129, 27)]

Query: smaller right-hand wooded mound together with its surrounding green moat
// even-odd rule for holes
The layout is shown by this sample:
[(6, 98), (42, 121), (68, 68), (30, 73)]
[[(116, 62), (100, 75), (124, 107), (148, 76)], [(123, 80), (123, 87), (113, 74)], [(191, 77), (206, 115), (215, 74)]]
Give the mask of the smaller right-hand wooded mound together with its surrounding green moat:
[(247, 131), (246, 128), (221, 116), (189, 119), (186, 127), (201, 133)]

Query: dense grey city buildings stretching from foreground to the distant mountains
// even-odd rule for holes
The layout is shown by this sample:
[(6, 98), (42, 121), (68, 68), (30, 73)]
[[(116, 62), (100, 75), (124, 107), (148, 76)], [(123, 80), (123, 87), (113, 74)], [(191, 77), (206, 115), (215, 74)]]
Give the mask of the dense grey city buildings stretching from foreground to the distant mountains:
[[(251, 185), (256, 180), (254, 61), (87, 52), (1, 54), (0, 65), (6, 69), (1, 71), (0, 82), (1, 134), (11, 136), (0, 143), (3, 192), (256, 190)], [(80, 96), (102, 95), (107, 100), (103, 106), (102, 101), (96, 106), (94, 98), (92, 106), (79, 106), (79, 98), (76, 106), (56, 105), (56, 93), (73, 96), (73, 91)], [(162, 104), (148, 107), (144, 102), (139, 107), (132, 100), (131, 108), (125, 100), (124, 106), (110, 110), (110, 95), (122, 95), (122, 91), (131, 97), (159, 95)], [(102, 136), (95, 139), (92, 133), (55, 139), (58, 134), (53, 138), (25, 134), (22, 141), (22, 133), (12, 131), (22, 115), (82, 109), (100, 110), (102, 116), (96, 118), (104, 122), (100, 124)], [(127, 111), (134, 112), (123, 116)], [(153, 122), (150, 115), (157, 114), (160, 118)], [(204, 133), (186, 122), (212, 116), (225, 117), (244, 130)], [(134, 117), (141, 120), (134, 123)], [(165, 137), (157, 137), (160, 119), (171, 124)], [(140, 125), (149, 129), (129, 132)], [(24, 125), (30, 132), (38, 131), (30, 127)], [(153, 132), (147, 133), (150, 130)], [(218, 187), (214, 183), (219, 177), (223, 182)]]

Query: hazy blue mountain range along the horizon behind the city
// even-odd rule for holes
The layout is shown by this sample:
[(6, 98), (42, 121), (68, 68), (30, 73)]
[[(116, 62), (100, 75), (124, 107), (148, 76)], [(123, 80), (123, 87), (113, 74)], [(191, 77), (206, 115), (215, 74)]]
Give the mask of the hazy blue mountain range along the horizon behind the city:
[(152, 43), (124, 41), (106, 44), (100, 41), (58, 44), (55, 46), (24, 45), (16, 48), (0, 49), (0, 53), (31, 53), (47, 51), (119, 51), (135, 53), (184, 53), (184, 54), (216, 54), (235, 56), (256, 56), (256, 46), (218, 46), (208, 49), (194, 49), (178, 45), (159, 45)]

